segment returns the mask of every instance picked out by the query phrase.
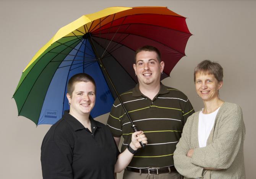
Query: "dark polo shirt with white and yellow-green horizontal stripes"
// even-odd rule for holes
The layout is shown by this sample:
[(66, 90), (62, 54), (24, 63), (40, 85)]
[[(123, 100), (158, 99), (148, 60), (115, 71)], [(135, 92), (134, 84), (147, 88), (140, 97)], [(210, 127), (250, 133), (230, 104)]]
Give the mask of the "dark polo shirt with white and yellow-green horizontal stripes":
[[(194, 109), (188, 97), (180, 90), (161, 83), (159, 93), (153, 100), (143, 95), (139, 85), (120, 95), (134, 124), (144, 131), (147, 146), (133, 156), (130, 167), (164, 167), (173, 165), (176, 149), (183, 126)], [(120, 104), (115, 100), (109, 114), (107, 126), (114, 137), (123, 136), (123, 152), (131, 142), (131, 123)]]

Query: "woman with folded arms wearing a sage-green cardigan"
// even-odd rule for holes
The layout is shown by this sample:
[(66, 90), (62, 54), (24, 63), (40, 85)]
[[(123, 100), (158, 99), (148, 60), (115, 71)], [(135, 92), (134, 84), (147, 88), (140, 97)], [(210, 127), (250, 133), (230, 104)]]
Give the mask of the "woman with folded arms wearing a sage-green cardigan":
[(173, 155), (175, 168), (185, 179), (245, 179), (242, 110), (219, 98), (222, 78), (222, 67), (210, 60), (194, 70), (204, 108), (188, 118)]

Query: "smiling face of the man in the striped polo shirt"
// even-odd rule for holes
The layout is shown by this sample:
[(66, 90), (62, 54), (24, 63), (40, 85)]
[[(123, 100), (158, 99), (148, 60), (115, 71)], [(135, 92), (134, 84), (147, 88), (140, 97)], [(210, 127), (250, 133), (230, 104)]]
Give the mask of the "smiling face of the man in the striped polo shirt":
[(159, 63), (154, 51), (141, 51), (136, 55), (136, 64), (133, 64), (133, 68), (140, 85), (155, 85), (160, 83), (164, 62)]

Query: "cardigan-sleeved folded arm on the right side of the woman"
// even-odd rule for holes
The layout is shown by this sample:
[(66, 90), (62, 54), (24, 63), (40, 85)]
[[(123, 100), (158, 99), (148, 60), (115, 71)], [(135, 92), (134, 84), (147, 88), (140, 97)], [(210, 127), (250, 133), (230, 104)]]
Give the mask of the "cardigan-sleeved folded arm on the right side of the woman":
[(221, 119), (215, 132), (217, 138), (211, 144), (194, 149), (191, 157), (194, 165), (213, 169), (227, 169), (232, 165), (244, 137), (241, 108), (237, 106), (225, 111), (225, 117)]

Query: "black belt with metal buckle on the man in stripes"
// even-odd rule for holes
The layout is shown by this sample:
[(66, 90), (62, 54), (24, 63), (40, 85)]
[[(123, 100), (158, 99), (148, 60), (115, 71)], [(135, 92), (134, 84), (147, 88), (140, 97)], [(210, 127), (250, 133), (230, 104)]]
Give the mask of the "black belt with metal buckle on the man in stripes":
[[(169, 170), (170, 168), (170, 170)], [(126, 167), (128, 171), (136, 172), (136, 173), (147, 173), (149, 175), (156, 175), (160, 173), (171, 173), (171, 172), (177, 172), (175, 167), (163, 167), (163, 168), (131, 168), (129, 166)]]

